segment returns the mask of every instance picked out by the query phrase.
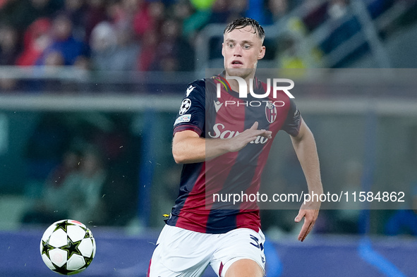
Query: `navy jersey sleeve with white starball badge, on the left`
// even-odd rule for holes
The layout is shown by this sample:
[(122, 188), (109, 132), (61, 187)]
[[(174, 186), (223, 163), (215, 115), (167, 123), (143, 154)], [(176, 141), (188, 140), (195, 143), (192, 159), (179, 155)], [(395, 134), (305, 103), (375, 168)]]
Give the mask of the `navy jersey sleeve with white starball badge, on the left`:
[(205, 126), (205, 81), (191, 82), (184, 94), (174, 122), (174, 135), (184, 130), (192, 130), (198, 135), (204, 134)]

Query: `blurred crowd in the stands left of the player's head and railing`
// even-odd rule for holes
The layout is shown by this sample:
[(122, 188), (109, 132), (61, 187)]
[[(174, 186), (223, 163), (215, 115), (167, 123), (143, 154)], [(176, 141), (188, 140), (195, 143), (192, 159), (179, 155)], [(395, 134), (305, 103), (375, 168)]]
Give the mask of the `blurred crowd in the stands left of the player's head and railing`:
[[(193, 69), (192, 48), (181, 35), (182, 20), (191, 13), (189, 2), (8, 0), (1, 3), (1, 65), (78, 66), (95, 70)], [(167, 16), (168, 13), (172, 16)]]

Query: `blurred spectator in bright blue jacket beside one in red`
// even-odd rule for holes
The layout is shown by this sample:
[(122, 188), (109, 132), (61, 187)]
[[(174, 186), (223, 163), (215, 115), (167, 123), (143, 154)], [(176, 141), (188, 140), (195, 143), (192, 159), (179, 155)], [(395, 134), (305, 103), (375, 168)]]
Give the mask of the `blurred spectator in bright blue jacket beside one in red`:
[(59, 52), (64, 57), (65, 66), (74, 63), (85, 56), (89, 56), (87, 45), (74, 39), (73, 24), (64, 13), (60, 13), (52, 22), (52, 44), (44, 51), (39, 64), (45, 64), (45, 58), (51, 52)]

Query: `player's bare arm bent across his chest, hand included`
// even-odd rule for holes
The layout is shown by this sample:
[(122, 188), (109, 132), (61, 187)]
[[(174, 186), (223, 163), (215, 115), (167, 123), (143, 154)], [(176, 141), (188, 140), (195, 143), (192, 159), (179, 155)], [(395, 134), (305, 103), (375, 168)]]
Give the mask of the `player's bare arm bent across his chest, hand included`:
[(271, 138), (272, 132), (258, 130), (258, 122), (230, 139), (206, 139), (193, 130), (177, 132), (172, 141), (172, 154), (177, 164), (193, 164), (213, 159), (227, 152), (236, 152), (261, 135)]

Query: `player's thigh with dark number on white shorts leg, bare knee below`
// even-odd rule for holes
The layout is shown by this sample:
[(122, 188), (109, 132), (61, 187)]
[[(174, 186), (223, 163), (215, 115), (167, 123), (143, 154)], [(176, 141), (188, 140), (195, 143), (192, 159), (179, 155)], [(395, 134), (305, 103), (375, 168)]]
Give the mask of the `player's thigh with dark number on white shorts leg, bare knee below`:
[[(213, 254), (210, 265), (219, 277), (229, 276), (258, 276), (242, 275), (244, 272), (238, 269), (248, 269), (250, 272), (260, 276), (265, 272), (264, 245), (265, 236), (260, 230), (258, 233), (248, 228), (239, 228), (222, 235), (217, 242), (217, 251)], [(231, 273), (229, 273), (229, 271)], [(229, 276), (229, 277), (230, 277)]]

